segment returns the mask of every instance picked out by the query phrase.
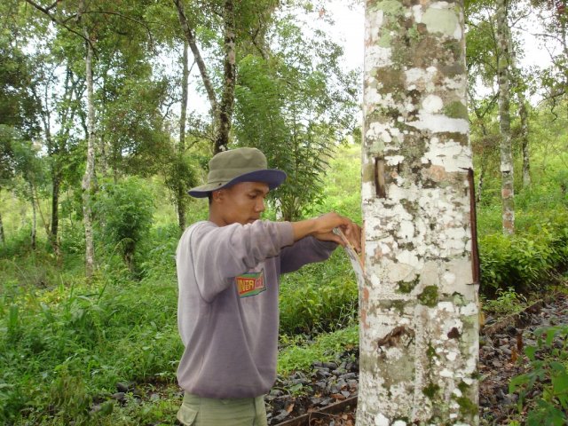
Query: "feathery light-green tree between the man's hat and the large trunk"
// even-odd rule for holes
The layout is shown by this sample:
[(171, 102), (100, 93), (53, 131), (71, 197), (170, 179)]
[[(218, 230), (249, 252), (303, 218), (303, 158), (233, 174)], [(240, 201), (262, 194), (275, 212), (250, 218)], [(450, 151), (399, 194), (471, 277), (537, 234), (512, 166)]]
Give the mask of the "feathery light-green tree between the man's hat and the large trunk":
[(310, 215), (324, 198), (323, 175), (335, 145), (354, 127), (356, 89), (338, 66), (343, 53), (291, 17), (271, 35), (273, 55), (239, 62), (234, 130), (241, 146), (256, 146), (288, 179), (272, 192), (286, 220)]

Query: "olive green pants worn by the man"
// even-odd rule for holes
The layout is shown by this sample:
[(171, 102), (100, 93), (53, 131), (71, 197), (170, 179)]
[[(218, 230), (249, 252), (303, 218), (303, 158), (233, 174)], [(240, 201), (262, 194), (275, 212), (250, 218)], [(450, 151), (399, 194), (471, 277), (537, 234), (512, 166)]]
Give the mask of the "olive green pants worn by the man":
[(213, 399), (185, 392), (177, 420), (185, 426), (268, 426), (263, 397)]

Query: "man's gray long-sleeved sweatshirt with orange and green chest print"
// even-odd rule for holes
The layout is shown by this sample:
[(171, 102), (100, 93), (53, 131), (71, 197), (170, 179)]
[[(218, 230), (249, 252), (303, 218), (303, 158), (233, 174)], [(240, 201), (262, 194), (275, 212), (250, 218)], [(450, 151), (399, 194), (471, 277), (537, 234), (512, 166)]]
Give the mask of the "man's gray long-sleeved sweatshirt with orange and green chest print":
[(294, 242), (289, 222), (198, 222), (177, 245), (177, 381), (205, 398), (251, 398), (276, 380), (280, 273), (327, 259), (333, 242)]

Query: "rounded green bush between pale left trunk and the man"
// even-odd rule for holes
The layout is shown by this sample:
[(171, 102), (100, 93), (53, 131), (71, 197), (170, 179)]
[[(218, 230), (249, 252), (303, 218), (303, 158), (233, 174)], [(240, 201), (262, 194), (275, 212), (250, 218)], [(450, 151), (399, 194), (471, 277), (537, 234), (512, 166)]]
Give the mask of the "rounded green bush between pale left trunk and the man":
[(94, 205), (104, 241), (111, 249), (118, 248), (130, 270), (137, 245), (152, 225), (154, 205), (145, 186), (138, 177), (116, 184), (107, 182)]

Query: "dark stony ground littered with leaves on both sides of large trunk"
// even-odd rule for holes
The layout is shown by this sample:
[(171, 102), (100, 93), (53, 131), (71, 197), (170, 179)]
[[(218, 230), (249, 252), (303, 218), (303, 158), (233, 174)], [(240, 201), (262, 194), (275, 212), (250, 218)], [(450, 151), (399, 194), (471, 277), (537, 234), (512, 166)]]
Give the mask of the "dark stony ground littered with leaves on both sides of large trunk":
[[(508, 424), (514, 416), (519, 419), (518, 395), (509, 394), (509, 382), (512, 377), (525, 373), (529, 366), (523, 348), (536, 345), (534, 331), (537, 328), (561, 325), (568, 325), (566, 295), (548, 297), (515, 315), (487, 319), (479, 350), (482, 425)], [(296, 372), (286, 380), (279, 379), (266, 396), (269, 424), (354, 425), (358, 353), (358, 348), (353, 348), (340, 354), (338, 362), (314, 362), (311, 371)], [(531, 405), (531, 396), (529, 394), (525, 407)]]

